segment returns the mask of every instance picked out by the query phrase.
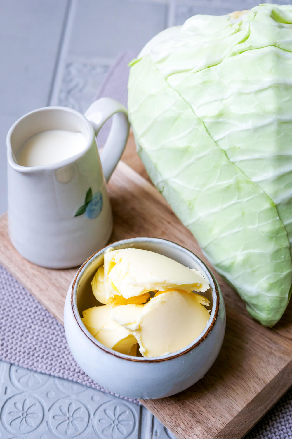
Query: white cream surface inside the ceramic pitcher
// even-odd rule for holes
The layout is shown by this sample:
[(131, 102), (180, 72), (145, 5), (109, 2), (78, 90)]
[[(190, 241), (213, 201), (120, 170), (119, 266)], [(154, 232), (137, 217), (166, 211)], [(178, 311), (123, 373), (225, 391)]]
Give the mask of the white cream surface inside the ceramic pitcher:
[(25, 140), (15, 158), (21, 166), (50, 165), (83, 151), (86, 143), (86, 138), (80, 132), (42, 131)]

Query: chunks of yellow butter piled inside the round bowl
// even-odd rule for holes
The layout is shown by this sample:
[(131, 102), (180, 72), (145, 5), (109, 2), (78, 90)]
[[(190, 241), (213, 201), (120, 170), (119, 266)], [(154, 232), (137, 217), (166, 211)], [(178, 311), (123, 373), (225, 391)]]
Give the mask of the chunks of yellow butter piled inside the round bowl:
[(102, 306), (83, 311), (88, 331), (107, 347), (127, 355), (153, 357), (190, 344), (206, 326), (210, 302), (201, 273), (138, 248), (104, 255), (91, 282)]

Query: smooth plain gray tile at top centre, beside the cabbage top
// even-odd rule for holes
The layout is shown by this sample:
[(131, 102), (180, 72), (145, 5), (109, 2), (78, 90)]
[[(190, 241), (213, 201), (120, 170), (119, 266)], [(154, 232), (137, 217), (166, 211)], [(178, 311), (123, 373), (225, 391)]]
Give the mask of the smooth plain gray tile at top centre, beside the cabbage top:
[(138, 53), (165, 27), (167, 6), (126, 0), (75, 1), (69, 55), (116, 57), (123, 50)]

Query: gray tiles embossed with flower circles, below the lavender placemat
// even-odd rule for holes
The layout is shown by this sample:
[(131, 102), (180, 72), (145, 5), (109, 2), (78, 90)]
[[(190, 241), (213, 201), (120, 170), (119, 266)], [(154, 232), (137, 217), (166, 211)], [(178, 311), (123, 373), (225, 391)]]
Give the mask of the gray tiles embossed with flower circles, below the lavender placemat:
[(0, 363), (0, 438), (173, 439), (138, 404)]

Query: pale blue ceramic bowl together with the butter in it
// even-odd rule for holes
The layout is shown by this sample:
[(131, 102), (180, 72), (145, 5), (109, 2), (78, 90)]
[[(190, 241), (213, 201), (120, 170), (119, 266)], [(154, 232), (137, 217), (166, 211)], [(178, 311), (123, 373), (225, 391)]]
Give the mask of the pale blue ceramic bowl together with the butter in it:
[(64, 309), (80, 367), (123, 396), (154, 399), (208, 371), (225, 333), (225, 306), (210, 270), (158, 238), (119, 241), (77, 272)]

